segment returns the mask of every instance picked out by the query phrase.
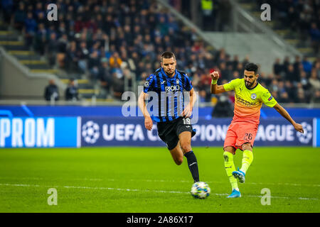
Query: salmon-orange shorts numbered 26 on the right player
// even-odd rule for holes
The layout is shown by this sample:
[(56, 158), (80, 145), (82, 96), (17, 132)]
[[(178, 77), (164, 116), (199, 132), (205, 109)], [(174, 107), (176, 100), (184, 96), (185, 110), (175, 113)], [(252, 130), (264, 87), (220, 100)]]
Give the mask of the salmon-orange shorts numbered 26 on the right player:
[(257, 135), (257, 124), (255, 123), (242, 123), (237, 131), (237, 142), (235, 146), (243, 150), (252, 150), (255, 143), (255, 136)]

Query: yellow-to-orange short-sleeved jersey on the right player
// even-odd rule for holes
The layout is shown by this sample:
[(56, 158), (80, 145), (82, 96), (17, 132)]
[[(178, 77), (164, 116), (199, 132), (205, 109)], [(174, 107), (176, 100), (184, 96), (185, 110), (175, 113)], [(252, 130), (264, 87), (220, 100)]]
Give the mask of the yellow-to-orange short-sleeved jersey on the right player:
[(233, 121), (254, 121), (259, 123), (262, 103), (273, 107), (277, 101), (270, 92), (257, 83), (252, 89), (245, 87), (245, 79), (233, 79), (223, 84), (225, 91), (235, 91), (235, 110)]

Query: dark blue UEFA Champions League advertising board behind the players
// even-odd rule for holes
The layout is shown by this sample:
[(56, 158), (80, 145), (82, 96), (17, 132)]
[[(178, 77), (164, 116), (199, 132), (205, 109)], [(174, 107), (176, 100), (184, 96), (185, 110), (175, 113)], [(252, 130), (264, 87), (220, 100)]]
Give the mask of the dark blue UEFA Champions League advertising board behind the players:
[[(193, 146), (223, 146), (231, 118), (199, 118)], [(256, 146), (311, 146), (314, 126), (312, 118), (300, 118), (304, 134), (298, 133), (285, 119), (269, 118), (260, 121)], [(166, 146), (157, 135), (156, 124), (151, 131), (144, 128), (142, 117), (90, 118), (82, 117), (81, 146)]]

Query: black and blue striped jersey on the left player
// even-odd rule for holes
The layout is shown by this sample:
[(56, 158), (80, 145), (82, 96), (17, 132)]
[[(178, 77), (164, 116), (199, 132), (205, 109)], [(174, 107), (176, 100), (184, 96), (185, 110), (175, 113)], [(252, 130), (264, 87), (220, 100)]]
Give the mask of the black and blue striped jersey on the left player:
[[(156, 92), (156, 99), (149, 100), (152, 105), (150, 116), (153, 121), (173, 121), (181, 116), (184, 109), (183, 91), (190, 92), (191, 80), (185, 72), (176, 70), (174, 77), (168, 77), (161, 67), (150, 74), (144, 83), (144, 93)], [(154, 97), (151, 95), (151, 97)]]

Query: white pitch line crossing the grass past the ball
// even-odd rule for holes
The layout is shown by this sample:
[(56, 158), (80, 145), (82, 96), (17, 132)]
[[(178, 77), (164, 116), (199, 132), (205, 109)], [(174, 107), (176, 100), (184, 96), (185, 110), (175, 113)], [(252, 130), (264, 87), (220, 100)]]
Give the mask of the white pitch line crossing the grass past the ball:
[[(73, 189), (98, 189), (98, 190), (117, 190), (117, 191), (126, 191), (126, 192), (157, 192), (157, 193), (176, 193), (176, 194), (190, 194), (190, 192), (179, 192), (179, 191), (164, 191), (164, 190), (148, 190), (148, 189), (116, 189), (112, 187), (83, 187), (83, 186), (46, 186), (38, 184), (0, 184), (0, 186), (14, 186), (14, 187), (64, 187), (64, 188), (73, 188)], [(218, 194), (211, 193), (216, 196), (227, 196), (228, 194)], [(255, 195), (245, 195), (247, 197), (256, 197), (261, 198), (262, 196)], [(304, 200), (319, 200), (318, 198), (289, 198), (282, 196), (270, 196), (272, 199), (304, 199)]]

